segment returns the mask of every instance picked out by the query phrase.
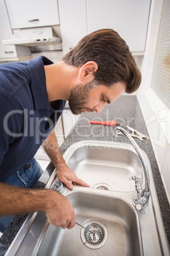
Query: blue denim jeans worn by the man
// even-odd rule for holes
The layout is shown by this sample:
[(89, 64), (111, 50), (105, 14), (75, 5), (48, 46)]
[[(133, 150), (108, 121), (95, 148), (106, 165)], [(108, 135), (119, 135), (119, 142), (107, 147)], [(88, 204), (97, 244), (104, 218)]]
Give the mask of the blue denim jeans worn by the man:
[[(36, 159), (30, 160), (25, 166), (23, 166), (19, 171), (8, 176), (6, 178), (0, 179), (0, 181), (13, 185), (15, 187), (25, 187), (33, 188), (37, 181), (39, 180), (41, 174), (43, 173), (41, 166), (36, 161)], [(0, 232), (3, 233), (5, 229), (10, 224), (12, 217), (0, 218)]]

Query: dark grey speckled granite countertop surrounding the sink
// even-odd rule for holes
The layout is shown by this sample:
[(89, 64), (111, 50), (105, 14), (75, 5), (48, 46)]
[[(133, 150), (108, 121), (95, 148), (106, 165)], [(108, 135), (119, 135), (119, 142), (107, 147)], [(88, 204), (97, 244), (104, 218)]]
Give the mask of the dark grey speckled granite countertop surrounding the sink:
[[(137, 131), (148, 135), (147, 128), (145, 127), (145, 122), (143, 115), (141, 113), (140, 105), (136, 96), (121, 96), (115, 103), (105, 106), (100, 114), (97, 113), (83, 113), (74, 129), (70, 132), (67, 139), (63, 142), (61, 146), (62, 153), (69, 148), (70, 145), (81, 140), (98, 140), (98, 141), (111, 141), (113, 134), (113, 127), (107, 125), (90, 125), (88, 120), (117, 120), (117, 122), (122, 124), (122, 127), (126, 129), (126, 125), (133, 127)], [(127, 142), (124, 136), (119, 136), (116, 141)], [(152, 167), (152, 173), (155, 181), (155, 188), (157, 190), (157, 197), (159, 199), (160, 211), (162, 213), (162, 219), (166, 229), (167, 239), (170, 245), (170, 206), (167, 200), (166, 192), (164, 190), (164, 185), (160, 177), (159, 168), (157, 166), (157, 161), (155, 160), (154, 150), (152, 144), (147, 139), (140, 141), (135, 139), (138, 146), (145, 151), (150, 160), (150, 165)], [(36, 187), (45, 187), (49, 176), (53, 172), (53, 164), (49, 164), (48, 168), (42, 174)], [(16, 216), (13, 221), (8, 226), (3, 236), (0, 239), (0, 243), (8, 248), (15, 238), (18, 230), (23, 224), (27, 215)]]

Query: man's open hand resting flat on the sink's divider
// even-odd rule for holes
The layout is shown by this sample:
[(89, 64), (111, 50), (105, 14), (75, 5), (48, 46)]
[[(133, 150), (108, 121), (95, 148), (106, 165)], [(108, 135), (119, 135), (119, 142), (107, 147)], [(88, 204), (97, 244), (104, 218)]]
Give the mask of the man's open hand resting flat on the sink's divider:
[(58, 180), (65, 183), (65, 185), (70, 189), (73, 188), (72, 182), (77, 183), (84, 187), (89, 187), (89, 185), (86, 182), (77, 178), (76, 174), (67, 166), (67, 164), (65, 164), (64, 161), (60, 162), (60, 164), (57, 165), (56, 176), (58, 177)]

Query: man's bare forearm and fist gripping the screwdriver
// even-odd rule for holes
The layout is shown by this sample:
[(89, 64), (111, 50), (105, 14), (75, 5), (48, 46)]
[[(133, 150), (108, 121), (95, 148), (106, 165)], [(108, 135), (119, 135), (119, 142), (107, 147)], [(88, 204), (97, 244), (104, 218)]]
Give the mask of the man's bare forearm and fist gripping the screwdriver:
[(62, 229), (75, 226), (74, 208), (69, 199), (55, 190), (18, 188), (0, 182), (0, 217), (44, 211), (49, 223)]

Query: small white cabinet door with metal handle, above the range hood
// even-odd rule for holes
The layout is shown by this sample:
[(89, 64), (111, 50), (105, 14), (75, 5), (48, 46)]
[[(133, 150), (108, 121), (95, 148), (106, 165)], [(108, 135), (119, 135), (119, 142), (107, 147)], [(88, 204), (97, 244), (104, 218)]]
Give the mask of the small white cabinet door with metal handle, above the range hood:
[(58, 25), (57, 0), (5, 0), (12, 29)]

